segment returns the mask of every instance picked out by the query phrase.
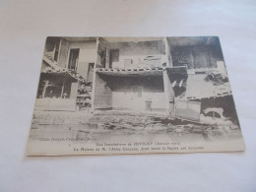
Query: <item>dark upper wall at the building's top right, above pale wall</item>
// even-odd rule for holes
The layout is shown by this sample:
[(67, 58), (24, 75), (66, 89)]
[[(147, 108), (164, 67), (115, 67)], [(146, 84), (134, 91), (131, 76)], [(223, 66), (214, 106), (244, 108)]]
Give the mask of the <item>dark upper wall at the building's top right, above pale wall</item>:
[(218, 36), (167, 37), (173, 66), (187, 66), (188, 69), (217, 68), (218, 61), (224, 61)]

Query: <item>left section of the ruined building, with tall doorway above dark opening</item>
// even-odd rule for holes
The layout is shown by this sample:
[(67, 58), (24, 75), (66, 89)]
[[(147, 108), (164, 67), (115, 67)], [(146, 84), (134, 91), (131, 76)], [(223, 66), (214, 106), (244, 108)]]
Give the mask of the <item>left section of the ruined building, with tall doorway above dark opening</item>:
[(47, 37), (35, 109), (90, 107), (95, 63), (95, 37)]

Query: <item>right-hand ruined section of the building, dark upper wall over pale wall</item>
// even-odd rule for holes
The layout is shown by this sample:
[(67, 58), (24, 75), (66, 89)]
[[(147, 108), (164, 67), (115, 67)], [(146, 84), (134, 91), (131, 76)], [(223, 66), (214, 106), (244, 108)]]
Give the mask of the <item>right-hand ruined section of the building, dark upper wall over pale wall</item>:
[[(189, 74), (186, 91), (178, 97), (178, 101), (198, 102), (200, 121), (231, 120), (237, 124), (220, 39), (217, 36), (210, 36), (169, 37), (168, 40), (173, 66), (185, 65)], [(180, 107), (179, 102), (176, 104), (177, 108)], [(184, 114), (185, 111), (178, 115)]]

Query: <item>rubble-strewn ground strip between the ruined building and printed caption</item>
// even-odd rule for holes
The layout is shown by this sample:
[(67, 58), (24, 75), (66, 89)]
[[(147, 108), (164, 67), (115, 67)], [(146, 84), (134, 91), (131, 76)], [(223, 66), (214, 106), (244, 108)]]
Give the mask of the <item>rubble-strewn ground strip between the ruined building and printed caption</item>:
[(237, 125), (202, 124), (149, 114), (35, 111), (31, 139), (73, 138), (74, 141), (111, 141), (120, 137), (167, 137), (170, 141), (218, 141), (241, 137)]

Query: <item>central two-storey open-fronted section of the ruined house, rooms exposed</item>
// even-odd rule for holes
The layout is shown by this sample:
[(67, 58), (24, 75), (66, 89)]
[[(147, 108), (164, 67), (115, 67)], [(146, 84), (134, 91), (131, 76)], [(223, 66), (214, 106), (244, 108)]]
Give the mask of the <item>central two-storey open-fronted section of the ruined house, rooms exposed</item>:
[(99, 38), (94, 109), (174, 112), (171, 84), (178, 81), (181, 94), (187, 70), (172, 67), (167, 43), (161, 37)]

